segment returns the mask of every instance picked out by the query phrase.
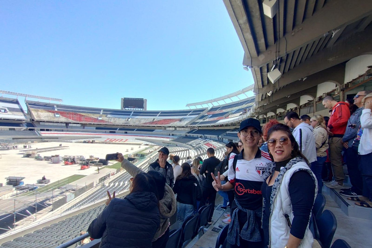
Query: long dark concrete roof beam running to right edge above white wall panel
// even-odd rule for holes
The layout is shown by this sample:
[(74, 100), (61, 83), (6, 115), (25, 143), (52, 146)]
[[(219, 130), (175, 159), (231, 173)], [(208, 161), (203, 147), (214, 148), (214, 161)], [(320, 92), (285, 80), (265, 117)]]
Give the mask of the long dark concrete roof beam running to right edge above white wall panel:
[[(359, 55), (372, 51), (372, 25), (362, 32), (356, 32), (345, 39), (339, 40), (333, 47), (325, 48), (321, 53), (311, 56), (310, 59), (289, 71), (275, 83), (275, 88), (286, 86), (300, 78), (308, 77), (327, 68), (349, 61)], [(343, 83), (342, 81), (339, 81)], [(258, 89), (260, 94), (272, 90), (272, 85)]]

